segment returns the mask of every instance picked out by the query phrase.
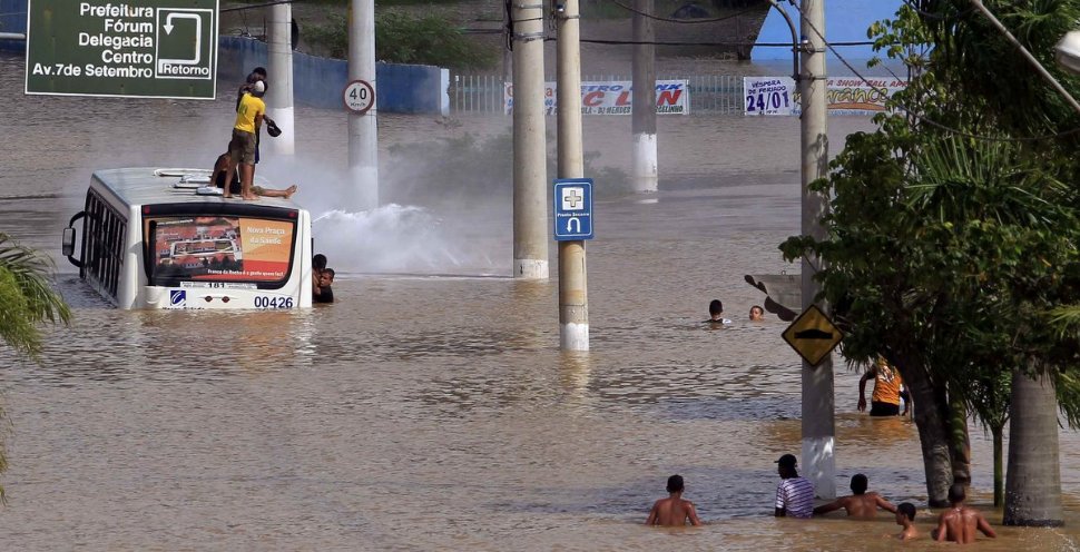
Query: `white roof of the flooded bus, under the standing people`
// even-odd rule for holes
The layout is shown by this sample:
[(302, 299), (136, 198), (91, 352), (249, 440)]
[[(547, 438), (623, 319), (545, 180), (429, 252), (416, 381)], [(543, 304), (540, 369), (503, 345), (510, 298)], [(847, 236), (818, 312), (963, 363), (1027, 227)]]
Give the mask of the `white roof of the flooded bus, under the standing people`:
[[(206, 169), (132, 167), (122, 169), (102, 169), (94, 172), (94, 178), (108, 188), (126, 205), (154, 205), (177, 203), (243, 203), (248, 205), (267, 205), (303, 210), (303, 207), (292, 199), (278, 197), (259, 197), (255, 201), (244, 201), (238, 197), (225, 199), (217, 195), (200, 195), (195, 187), (177, 187), (181, 180), (192, 177), (209, 178)], [(269, 187), (266, 179), (256, 176), (255, 184)]]

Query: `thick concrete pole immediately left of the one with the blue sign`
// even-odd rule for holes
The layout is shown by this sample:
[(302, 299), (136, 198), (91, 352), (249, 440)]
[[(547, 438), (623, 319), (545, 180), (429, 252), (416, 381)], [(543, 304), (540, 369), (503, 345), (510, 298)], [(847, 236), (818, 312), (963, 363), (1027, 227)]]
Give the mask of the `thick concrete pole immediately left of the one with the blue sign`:
[(548, 149), (543, 106), (543, 0), (512, 2), (513, 277), (548, 278)]

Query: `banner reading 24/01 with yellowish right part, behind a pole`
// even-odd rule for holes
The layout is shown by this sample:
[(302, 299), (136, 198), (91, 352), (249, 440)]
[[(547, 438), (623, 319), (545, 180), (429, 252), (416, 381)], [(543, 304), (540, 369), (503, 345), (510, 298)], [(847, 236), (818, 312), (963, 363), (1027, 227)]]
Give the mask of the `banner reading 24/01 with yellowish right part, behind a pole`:
[[(892, 78), (836, 77), (826, 81), (828, 115), (875, 115), (885, 111), (885, 101), (907, 87)], [(798, 91), (791, 77), (744, 77), (744, 115), (798, 115)]]

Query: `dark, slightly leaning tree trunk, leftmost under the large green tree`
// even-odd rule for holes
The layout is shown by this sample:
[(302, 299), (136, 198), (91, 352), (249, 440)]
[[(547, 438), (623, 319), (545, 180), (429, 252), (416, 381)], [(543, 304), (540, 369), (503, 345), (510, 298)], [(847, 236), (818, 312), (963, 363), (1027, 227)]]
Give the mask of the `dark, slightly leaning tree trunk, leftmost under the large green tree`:
[(930, 506), (948, 506), (953, 474), (952, 455), (949, 451), (949, 403), (944, 390), (935, 390), (921, 366), (907, 366), (906, 369), (901, 368), (901, 375), (907, 382), (912, 402), (917, 405), (914, 418), (926, 470)]

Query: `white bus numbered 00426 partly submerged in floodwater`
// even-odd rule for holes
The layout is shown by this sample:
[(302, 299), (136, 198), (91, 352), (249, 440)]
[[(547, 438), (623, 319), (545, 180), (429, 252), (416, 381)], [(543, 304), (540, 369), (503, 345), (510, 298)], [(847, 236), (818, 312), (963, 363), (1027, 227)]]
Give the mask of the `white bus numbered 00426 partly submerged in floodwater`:
[(119, 308), (311, 307), (311, 214), (283, 198), (225, 199), (207, 184), (200, 169), (99, 170), (63, 255)]

